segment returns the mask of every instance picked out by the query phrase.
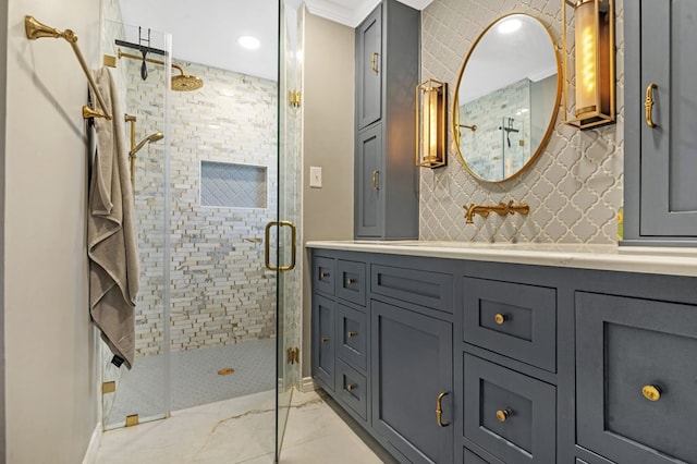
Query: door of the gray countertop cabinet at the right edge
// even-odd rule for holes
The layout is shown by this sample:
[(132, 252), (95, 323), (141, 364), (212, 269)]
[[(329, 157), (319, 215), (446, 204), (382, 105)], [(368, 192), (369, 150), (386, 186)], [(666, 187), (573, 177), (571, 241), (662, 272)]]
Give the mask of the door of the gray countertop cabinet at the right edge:
[(653, 89), (651, 129), (641, 125), (641, 235), (697, 235), (697, 2), (641, 0), (641, 95)]

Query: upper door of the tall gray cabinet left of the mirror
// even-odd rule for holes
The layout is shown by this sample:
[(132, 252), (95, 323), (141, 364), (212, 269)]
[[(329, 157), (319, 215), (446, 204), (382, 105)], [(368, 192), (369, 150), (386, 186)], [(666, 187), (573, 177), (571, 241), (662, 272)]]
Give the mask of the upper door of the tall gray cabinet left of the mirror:
[(378, 121), (382, 107), (382, 5), (356, 28), (358, 129)]

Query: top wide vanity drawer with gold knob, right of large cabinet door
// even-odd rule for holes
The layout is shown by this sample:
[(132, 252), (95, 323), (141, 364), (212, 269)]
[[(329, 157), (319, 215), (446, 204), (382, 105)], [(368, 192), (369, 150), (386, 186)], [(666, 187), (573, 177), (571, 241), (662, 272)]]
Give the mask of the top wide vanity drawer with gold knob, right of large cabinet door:
[(557, 291), (463, 279), (464, 341), (557, 371)]

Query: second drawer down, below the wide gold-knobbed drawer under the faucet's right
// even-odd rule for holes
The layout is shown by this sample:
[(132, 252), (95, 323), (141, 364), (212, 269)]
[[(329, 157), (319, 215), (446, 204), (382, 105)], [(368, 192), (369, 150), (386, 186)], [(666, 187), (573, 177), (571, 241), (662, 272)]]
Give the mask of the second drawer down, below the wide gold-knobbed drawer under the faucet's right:
[(555, 462), (557, 389), (464, 355), (465, 438), (505, 463)]

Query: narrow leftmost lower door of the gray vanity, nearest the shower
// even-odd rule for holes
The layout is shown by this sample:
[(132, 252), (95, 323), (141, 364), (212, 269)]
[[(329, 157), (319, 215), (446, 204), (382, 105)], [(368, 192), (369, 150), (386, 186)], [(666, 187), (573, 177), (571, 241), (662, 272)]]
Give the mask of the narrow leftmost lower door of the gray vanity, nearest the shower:
[(334, 325), (337, 303), (318, 294), (313, 296), (313, 370), (322, 387), (334, 391)]

